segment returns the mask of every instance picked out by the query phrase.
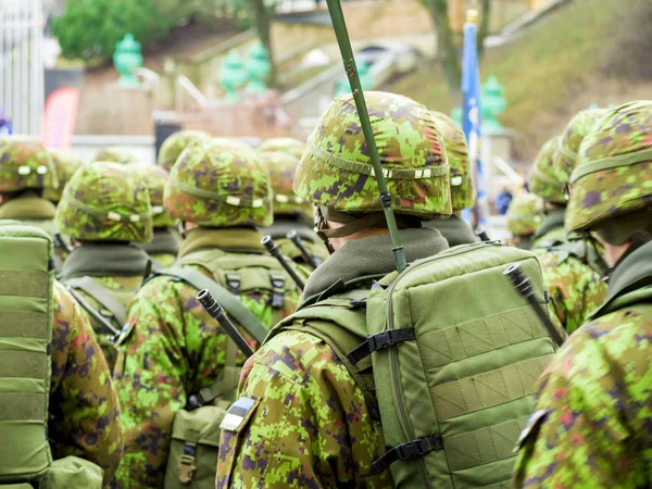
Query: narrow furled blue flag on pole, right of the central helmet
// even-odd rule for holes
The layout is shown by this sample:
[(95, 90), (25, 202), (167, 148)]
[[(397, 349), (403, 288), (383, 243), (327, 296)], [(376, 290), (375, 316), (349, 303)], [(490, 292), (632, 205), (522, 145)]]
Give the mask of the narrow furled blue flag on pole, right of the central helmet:
[[(464, 113), (462, 128), (468, 143), (471, 167), (474, 168), (476, 188), (477, 226), (487, 226), (487, 183), (482, 170), (480, 141), (482, 136), (482, 113), (480, 110), (480, 68), (476, 45), (477, 27), (474, 22), (464, 24), (464, 52), (462, 58), (462, 95), (464, 96)], [(465, 217), (469, 217), (466, 215)], [(468, 220), (467, 220), (468, 221)]]

